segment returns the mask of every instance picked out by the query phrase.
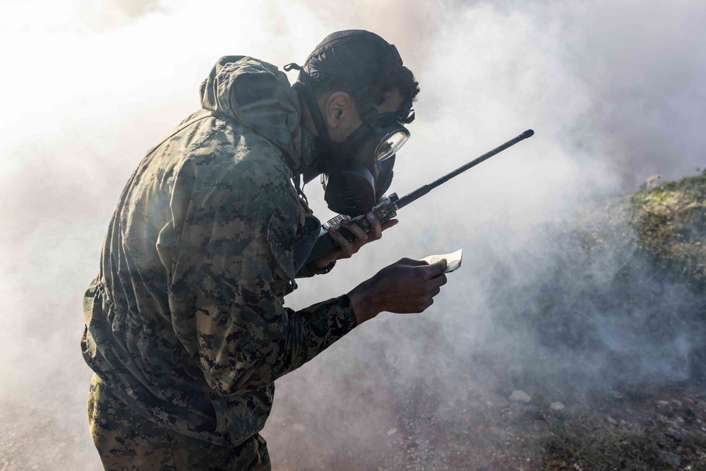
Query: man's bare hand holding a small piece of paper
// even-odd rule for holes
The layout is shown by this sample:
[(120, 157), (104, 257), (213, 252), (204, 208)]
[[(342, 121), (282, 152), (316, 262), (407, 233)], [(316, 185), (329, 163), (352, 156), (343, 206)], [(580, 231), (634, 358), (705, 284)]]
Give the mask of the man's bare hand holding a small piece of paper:
[(433, 304), (446, 284), (446, 261), (429, 263), (402, 258), (380, 270), (348, 293), (358, 323), (383, 311), (409, 314), (424, 311)]

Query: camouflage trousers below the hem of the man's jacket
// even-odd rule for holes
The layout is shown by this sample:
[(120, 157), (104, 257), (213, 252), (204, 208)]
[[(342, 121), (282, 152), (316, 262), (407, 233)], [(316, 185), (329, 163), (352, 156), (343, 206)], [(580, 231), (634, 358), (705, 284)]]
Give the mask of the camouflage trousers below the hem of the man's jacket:
[(133, 412), (95, 374), (88, 393), (88, 424), (109, 471), (270, 470), (267, 445), (258, 434), (235, 448), (177, 434)]

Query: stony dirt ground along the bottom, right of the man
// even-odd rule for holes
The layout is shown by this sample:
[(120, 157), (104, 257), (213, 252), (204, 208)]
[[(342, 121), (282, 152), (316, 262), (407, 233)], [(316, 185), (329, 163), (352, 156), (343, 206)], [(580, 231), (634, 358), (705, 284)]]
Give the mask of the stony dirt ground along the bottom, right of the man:
[(328, 437), (296, 408), (280, 410), (273, 420), (290, 439), (270, 441), (273, 469), (706, 470), (703, 384), (565, 391), (551, 403), (513, 402), (510, 393), (493, 378), (472, 385), (455, 412), (440, 414), (438, 400), (417, 390), (395, 407), (396, 423), (366, 431), (377, 436), (374, 446), (348, 443), (346, 450), (323, 447)]

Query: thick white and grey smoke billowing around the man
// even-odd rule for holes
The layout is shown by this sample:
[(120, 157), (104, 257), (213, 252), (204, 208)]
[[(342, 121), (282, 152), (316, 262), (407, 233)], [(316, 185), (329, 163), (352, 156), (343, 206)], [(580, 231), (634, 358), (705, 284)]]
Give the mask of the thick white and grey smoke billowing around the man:
[[(344, 28), (397, 44), (421, 83), (394, 191), (411, 191), (527, 128), (537, 134), (401, 210), (402, 222), (381, 242), (302, 282), (288, 299), (306, 306), (402, 256), (465, 249), (464, 266), (426, 314), (382, 314), (277, 381), (265, 428), (275, 462), (346, 469), (342, 461), (357, 450), (368, 453), (359, 463), (393, 459), (388, 431), (416, 433), (398, 422), (401, 409), (423, 400), (448, 418), (474, 381), (491, 378), (493, 362), (547, 375), (523, 360), (542, 359), (577, 385), (614, 384), (626, 364), (633, 381), (683, 377), (700, 333), (683, 316), (664, 335), (647, 335), (640, 321), (666, 305), (679, 316), (688, 295), (676, 285), (634, 282), (626, 289), (646, 290), (636, 299), (659, 293), (664, 304), (642, 299), (635, 306), (645, 309), (618, 321), (609, 296), (590, 304), (585, 293), (616, 286), (632, 256), (625, 245), (616, 241), (580, 270), (562, 268), (556, 246), (568, 240), (566, 250), (575, 249), (576, 239), (563, 236), (580, 225), (577, 208), (589, 198), (706, 166), (706, 33), (698, 24), (705, 9), (647, 0), (4, 3), (2, 16), (14, 21), (1, 27), (0, 40), (14, 46), (11, 73), (0, 79), (0, 414), (12, 424), (6, 436), (26, 443), (7, 459), (98, 469), (85, 427), (91, 373), (78, 346), (80, 298), (124, 182), (145, 150), (196, 109), (198, 83), (213, 62), (250, 54), (301, 63), (328, 32)], [(328, 217), (320, 189), (306, 192), (320, 202), (316, 214)], [(566, 276), (558, 282), (556, 273)], [(639, 281), (639, 270), (633, 275)], [(547, 343), (560, 335), (537, 328), (546, 309), (575, 316), (566, 335), (585, 345)], [(518, 312), (528, 328), (518, 328)], [(306, 434), (288, 442), (292, 429)], [(45, 446), (37, 437), (47, 430), (54, 439)]]

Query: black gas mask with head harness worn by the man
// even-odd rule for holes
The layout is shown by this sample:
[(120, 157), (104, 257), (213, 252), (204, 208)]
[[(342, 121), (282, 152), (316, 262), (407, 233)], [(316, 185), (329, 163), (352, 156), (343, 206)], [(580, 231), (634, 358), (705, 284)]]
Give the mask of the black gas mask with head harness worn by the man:
[[(405, 124), (414, 120), (411, 97), (416, 84), (405, 83), (407, 90), (400, 90), (403, 96), (410, 97), (400, 111), (381, 114), (373, 105), (381, 105), (385, 97), (361, 84), (361, 77), (371, 76), (386, 66), (402, 66), (397, 48), (364, 30), (328, 35), (303, 68), (297, 64), (285, 66), (286, 71), (299, 70), (292, 88), (306, 100), (318, 131), (314, 141), (316, 158), (304, 171), (304, 183), (321, 174), (325, 201), (336, 213), (357, 216), (373, 208), (392, 183), (395, 153), (409, 138)], [(312, 73), (342, 78), (354, 97), (364, 123), (342, 143), (330, 139), (316, 101)]]

